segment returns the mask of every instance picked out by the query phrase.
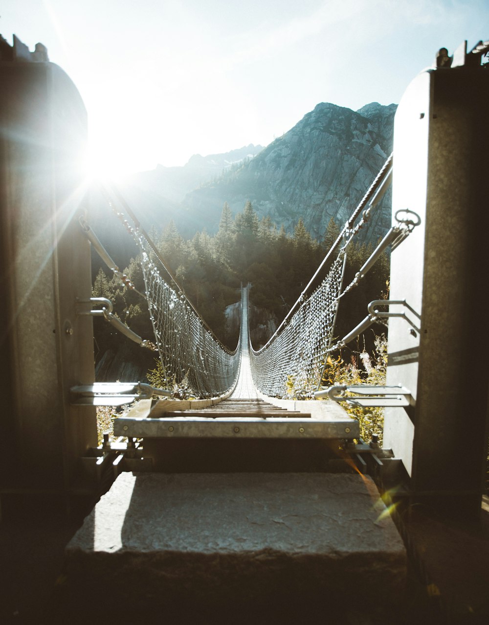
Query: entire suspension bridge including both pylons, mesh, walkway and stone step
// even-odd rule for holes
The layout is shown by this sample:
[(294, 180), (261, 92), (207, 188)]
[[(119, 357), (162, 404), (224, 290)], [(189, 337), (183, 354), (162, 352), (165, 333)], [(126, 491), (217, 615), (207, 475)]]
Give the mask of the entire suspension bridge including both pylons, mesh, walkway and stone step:
[[(2, 128), (10, 129), (0, 151), (2, 511), (23, 514), (19, 502), (27, 501), (31, 517), (29, 506), (69, 514), (89, 502), (64, 552), (66, 620), (102, 613), (102, 587), (135, 620), (157, 608), (173, 622), (192, 622), (197, 606), (197, 622), (240, 614), (300, 622), (307, 606), (319, 610), (310, 622), (325, 613), (353, 622), (352, 596), (365, 622), (386, 611), (395, 620), (406, 549), (423, 587), (434, 585), (447, 610), (455, 597), (457, 609), (483, 613), (478, 599), (487, 587), (474, 591), (467, 571), (478, 568), (463, 546), (466, 527), (471, 537), (481, 528), (487, 456), (489, 338), (480, 293), (489, 273), (481, 209), (489, 195), (481, 158), (489, 73), (480, 59), (488, 49), (462, 45), (450, 63), (440, 51), (408, 86), (395, 119), (395, 168), (391, 156), (259, 350), (249, 341), (248, 286), (230, 350), (124, 197), (106, 187), (107, 206), (139, 247), (144, 290), (136, 292), (84, 210), (79, 93), (52, 64), (1, 64)], [(392, 227), (344, 284), (348, 249), (391, 183)], [(147, 302), (154, 336), (139, 336), (111, 301), (91, 297), (92, 249)], [(365, 317), (338, 338), (338, 305), (387, 250), (390, 299), (373, 293)], [(96, 316), (154, 352), (165, 383), (97, 383)], [(388, 325), (385, 384), (322, 386), (328, 356), (374, 323)], [(187, 397), (175, 396), (174, 381)], [(117, 441), (97, 446), (96, 406), (134, 399), (116, 419)], [(342, 402), (385, 409), (382, 446), (360, 439)], [(440, 572), (445, 552), (457, 566)], [(354, 591), (352, 579), (362, 580)]]

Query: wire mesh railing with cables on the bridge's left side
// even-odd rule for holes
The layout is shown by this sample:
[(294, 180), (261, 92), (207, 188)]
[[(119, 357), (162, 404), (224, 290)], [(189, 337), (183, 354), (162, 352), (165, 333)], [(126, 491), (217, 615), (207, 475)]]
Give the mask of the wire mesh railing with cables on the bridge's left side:
[(114, 275), (146, 299), (154, 343), (142, 341), (112, 311), (101, 311), (101, 316), (133, 341), (158, 352), (161, 364), (159, 373), (166, 388), (179, 387), (190, 396), (197, 397), (219, 396), (230, 391), (239, 372), (240, 343), (232, 351), (214, 336), (185, 296), (151, 237), (141, 227), (119, 191), (115, 187), (102, 187), (101, 191), (107, 204), (139, 247), (144, 293), (136, 291), (127, 276), (119, 271), (86, 220), (81, 221), (82, 228)]

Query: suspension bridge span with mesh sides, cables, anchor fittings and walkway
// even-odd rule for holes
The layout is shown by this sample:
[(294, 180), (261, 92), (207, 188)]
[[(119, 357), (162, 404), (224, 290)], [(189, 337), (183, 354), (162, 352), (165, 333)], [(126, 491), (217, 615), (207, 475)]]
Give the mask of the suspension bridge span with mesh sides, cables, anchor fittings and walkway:
[[(171, 396), (170, 381), (178, 387), (185, 381), (187, 394), (194, 401), (160, 400), (147, 406), (146, 419), (142, 418), (141, 406), (115, 423), (119, 436), (143, 437), (148, 449), (149, 437), (280, 437), (355, 439), (358, 423), (351, 421), (337, 404), (331, 402), (287, 402), (287, 382), (294, 381), (294, 395), (302, 399), (321, 396), (321, 379), (327, 357), (339, 347), (360, 336), (367, 327), (382, 321), (389, 313), (388, 307), (403, 302), (377, 301), (383, 310), (370, 314), (339, 342), (333, 341), (338, 302), (360, 282), (388, 247), (400, 244), (420, 223), (419, 217), (409, 209), (397, 211), (394, 225), (373, 250), (371, 256), (359, 267), (353, 282), (343, 286), (343, 275), (348, 246), (360, 230), (368, 227), (372, 211), (375, 211), (392, 179), (392, 155), (375, 177), (362, 201), (345, 223), (331, 249), (325, 255), (314, 276), (310, 279), (299, 299), (280, 324), (274, 336), (264, 347), (255, 351), (250, 344), (248, 301), (249, 286), (241, 288), (241, 323), (239, 342), (234, 351), (224, 347), (206, 327), (204, 319), (185, 297), (156, 246), (141, 227), (140, 222), (116, 187), (102, 189), (102, 194), (112, 212), (124, 224), (127, 232), (140, 248), (145, 292), (139, 293), (147, 300), (147, 307), (154, 329), (154, 340), (142, 339), (124, 326), (112, 314), (111, 302), (103, 298), (91, 298), (79, 302), (79, 306), (101, 305), (101, 309), (82, 310), (79, 314), (103, 316), (129, 339), (159, 354), (161, 370), (167, 379), (167, 388), (157, 389), (147, 384), (92, 384), (72, 387), (72, 403), (122, 404), (132, 399), (148, 401), (151, 394)], [(114, 276), (122, 284), (132, 287), (112, 261), (96, 233), (84, 217), (81, 227), (87, 239), (106, 262)], [(330, 269), (320, 281), (311, 286), (327, 262)], [(309, 292), (309, 290), (311, 292)], [(387, 308), (387, 311), (385, 309)], [(415, 311), (414, 311), (415, 312)], [(406, 317), (408, 321), (409, 318)], [(412, 322), (411, 322), (412, 323)], [(138, 395), (137, 391), (140, 391)], [(398, 386), (348, 387), (348, 392), (368, 394), (368, 401), (358, 402), (388, 405), (401, 401), (400, 393), (409, 394)], [(383, 394), (378, 396), (378, 393)], [(385, 399), (385, 395), (388, 399)], [(338, 396), (337, 399), (343, 399)], [(199, 398), (202, 398), (199, 401)], [(279, 401), (277, 401), (277, 399)], [(280, 399), (285, 401), (280, 401)], [(353, 401), (353, 400), (350, 400)], [(372, 401), (374, 402), (372, 404)], [(293, 405), (292, 405), (293, 404)], [(299, 408), (299, 409), (296, 409)], [(132, 416), (132, 414), (136, 416)], [(211, 421), (212, 419), (212, 421)], [(239, 422), (239, 423), (238, 423)], [(153, 461), (157, 459), (153, 457)]]

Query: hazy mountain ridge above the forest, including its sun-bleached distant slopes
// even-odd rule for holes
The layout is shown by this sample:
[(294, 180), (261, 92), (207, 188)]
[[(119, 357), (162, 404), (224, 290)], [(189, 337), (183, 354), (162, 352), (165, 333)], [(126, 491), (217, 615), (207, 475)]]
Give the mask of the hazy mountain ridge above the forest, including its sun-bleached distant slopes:
[[(148, 229), (173, 220), (183, 236), (217, 232), (224, 202), (232, 212), (251, 201), (292, 233), (299, 217), (317, 239), (331, 217), (344, 223), (392, 151), (396, 104), (357, 111), (319, 103), (269, 146), (249, 144), (228, 153), (194, 154), (182, 167), (158, 166), (124, 185), (127, 201)], [(387, 192), (370, 240), (390, 226)]]

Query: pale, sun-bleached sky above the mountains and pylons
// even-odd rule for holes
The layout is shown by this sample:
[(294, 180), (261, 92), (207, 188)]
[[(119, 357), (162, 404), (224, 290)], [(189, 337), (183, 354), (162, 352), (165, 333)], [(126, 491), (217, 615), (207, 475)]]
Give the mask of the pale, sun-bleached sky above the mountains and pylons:
[(16, 34), (79, 89), (91, 161), (111, 173), (266, 146), (320, 102), (398, 103), (487, 0), (0, 0)]

